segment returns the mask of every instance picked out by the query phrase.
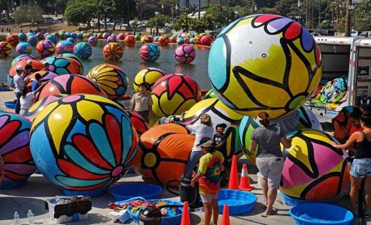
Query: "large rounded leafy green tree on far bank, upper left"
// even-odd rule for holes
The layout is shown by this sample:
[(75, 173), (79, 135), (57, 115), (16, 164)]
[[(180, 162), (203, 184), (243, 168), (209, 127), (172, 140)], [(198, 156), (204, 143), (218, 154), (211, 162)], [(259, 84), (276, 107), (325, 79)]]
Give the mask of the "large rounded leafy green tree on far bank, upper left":
[(83, 23), (86, 24), (89, 29), (90, 21), (95, 11), (96, 4), (94, 0), (69, 1), (64, 15), (68, 25), (79, 26)]

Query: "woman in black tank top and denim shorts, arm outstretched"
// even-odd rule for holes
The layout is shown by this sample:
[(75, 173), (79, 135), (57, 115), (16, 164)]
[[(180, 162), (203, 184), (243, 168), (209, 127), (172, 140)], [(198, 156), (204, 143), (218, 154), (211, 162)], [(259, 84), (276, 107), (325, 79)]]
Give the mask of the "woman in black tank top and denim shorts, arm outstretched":
[(332, 142), (331, 145), (338, 149), (349, 149), (355, 146), (355, 160), (352, 163), (350, 170), (350, 207), (349, 209), (357, 216), (355, 205), (358, 198), (359, 187), (363, 179), (366, 192), (366, 212), (364, 216), (368, 218), (371, 211), (371, 111), (365, 111), (361, 116), (361, 126), (363, 131), (353, 133), (345, 144), (336, 144)]

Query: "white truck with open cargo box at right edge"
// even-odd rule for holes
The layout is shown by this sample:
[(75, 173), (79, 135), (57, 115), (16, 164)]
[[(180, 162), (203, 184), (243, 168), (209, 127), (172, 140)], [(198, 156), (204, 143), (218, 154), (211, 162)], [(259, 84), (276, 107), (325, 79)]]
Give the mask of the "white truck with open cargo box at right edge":
[[(371, 38), (314, 37), (321, 50), (323, 78), (334, 79), (348, 75), (346, 105), (364, 106), (371, 100)], [(331, 123), (339, 109), (327, 105), (305, 104), (319, 121)]]

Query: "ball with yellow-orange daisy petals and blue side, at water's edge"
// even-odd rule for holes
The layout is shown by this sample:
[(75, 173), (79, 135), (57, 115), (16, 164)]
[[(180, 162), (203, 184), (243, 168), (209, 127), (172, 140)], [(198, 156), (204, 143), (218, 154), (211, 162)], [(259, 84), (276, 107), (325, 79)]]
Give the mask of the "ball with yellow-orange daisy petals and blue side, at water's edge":
[(111, 64), (94, 66), (86, 76), (101, 87), (112, 100), (120, 100), (128, 89), (129, 78), (126, 73)]

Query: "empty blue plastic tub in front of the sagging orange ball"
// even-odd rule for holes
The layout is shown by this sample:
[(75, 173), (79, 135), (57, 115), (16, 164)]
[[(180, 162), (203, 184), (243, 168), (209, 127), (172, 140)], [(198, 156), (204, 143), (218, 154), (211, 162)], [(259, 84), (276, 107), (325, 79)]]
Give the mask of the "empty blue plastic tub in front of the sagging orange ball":
[(162, 192), (162, 188), (150, 183), (132, 182), (117, 185), (111, 188), (109, 192), (114, 196), (115, 201), (123, 201), (138, 196), (145, 199), (158, 199), (158, 196)]

